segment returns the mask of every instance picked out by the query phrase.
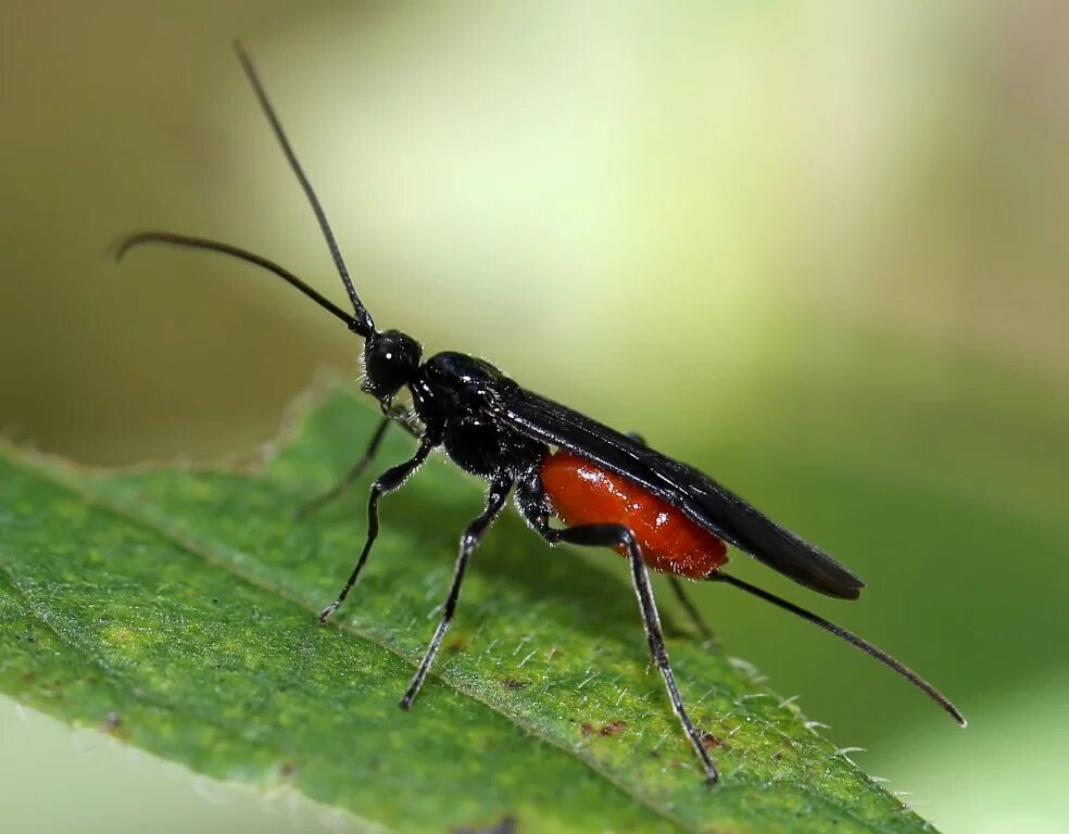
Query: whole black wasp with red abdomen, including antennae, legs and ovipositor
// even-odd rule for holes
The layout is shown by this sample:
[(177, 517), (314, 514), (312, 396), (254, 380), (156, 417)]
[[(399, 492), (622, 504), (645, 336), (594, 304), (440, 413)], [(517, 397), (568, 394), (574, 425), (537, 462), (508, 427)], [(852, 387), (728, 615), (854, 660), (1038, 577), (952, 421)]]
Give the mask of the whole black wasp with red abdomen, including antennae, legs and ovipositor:
[[(347, 313), (295, 275), (248, 250), (204, 238), (149, 231), (126, 239), (122, 256), (141, 243), (171, 243), (237, 257), (267, 269), (345, 323), (364, 339), (361, 388), (382, 409), (382, 420), (363, 457), (332, 490), (304, 507), (322, 506), (364, 471), (392, 425), (411, 433), (413, 456), (382, 472), (372, 484), (367, 538), (338, 598), (319, 615), (325, 623), (352, 590), (378, 535), (379, 500), (399, 489), (435, 448), (444, 448), (458, 467), (488, 482), (486, 505), (460, 539), (453, 578), (441, 620), (401, 706), (419, 692), (453, 618), (468, 559), (513, 496), (517, 509), (548, 543), (609, 547), (626, 557), (651, 656), (661, 671), (674, 711), (701, 759), (705, 776), (717, 771), (676, 686), (647, 566), (668, 574), (670, 586), (703, 634), (708, 629), (689, 602), (679, 577), (721, 582), (783, 608), (840, 636), (909, 680), (960, 723), (957, 709), (930, 684), (890, 655), (848, 631), (720, 570), (727, 545), (749, 553), (798, 584), (820, 593), (856, 598), (862, 581), (819, 548), (771, 521), (708, 476), (650, 448), (636, 434), (624, 434), (545, 397), (502, 374), (490, 363), (463, 353), (439, 353), (426, 362), (419, 343), (399, 330), (376, 329), (361, 302), (337, 241), (307, 177), (249, 58), (238, 56), (290, 166), (315, 212), (342, 279), (353, 313)], [(397, 405), (402, 392), (411, 407)], [(551, 523), (559, 518), (565, 526)]]

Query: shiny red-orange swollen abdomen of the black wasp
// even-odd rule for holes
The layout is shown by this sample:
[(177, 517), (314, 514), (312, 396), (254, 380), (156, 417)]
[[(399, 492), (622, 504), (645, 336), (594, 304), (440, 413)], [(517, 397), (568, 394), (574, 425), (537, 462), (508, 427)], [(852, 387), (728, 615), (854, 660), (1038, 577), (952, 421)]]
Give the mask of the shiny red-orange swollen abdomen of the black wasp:
[(569, 526), (624, 525), (654, 570), (701, 579), (728, 560), (727, 545), (680, 510), (626, 478), (568, 452), (542, 462), (542, 485)]

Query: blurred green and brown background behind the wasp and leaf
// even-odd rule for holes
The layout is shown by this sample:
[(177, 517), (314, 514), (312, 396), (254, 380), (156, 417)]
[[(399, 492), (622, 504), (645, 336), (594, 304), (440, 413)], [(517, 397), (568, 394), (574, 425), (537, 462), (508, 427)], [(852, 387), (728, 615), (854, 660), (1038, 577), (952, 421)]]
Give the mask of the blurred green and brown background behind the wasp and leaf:
[[(641, 430), (855, 568), (851, 606), (737, 559), (968, 731), (780, 612), (702, 606), (945, 831), (1064, 830), (1069, 7), (3, 0), (9, 438), (241, 456), (322, 369), (355, 372), (274, 279), (104, 256), (201, 233), (343, 298), (235, 35), (380, 326)], [(18, 715), (0, 702), (9, 830), (345, 827)]]

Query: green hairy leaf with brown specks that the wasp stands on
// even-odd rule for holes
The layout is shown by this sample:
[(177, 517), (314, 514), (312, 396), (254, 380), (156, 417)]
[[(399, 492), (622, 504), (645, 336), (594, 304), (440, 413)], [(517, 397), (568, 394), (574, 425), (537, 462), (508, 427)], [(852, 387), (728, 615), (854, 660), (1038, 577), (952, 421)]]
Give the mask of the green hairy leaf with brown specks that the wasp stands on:
[[(248, 470), (87, 471), (0, 450), (0, 688), (216, 779), (291, 785), (369, 831), (930, 830), (666, 611), (724, 773), (707, 787), (647, 673), (622, 560), (551, 551), (512, 516), (399, 710), (481, 488), (432, 460), (387, 498), (361, 584), (317, 628), (363, 543), (366, 482), (313, 519), (293, 509), (376, 419), (331, 390)], [(390, 438), (381, 466), (412, 447)]]

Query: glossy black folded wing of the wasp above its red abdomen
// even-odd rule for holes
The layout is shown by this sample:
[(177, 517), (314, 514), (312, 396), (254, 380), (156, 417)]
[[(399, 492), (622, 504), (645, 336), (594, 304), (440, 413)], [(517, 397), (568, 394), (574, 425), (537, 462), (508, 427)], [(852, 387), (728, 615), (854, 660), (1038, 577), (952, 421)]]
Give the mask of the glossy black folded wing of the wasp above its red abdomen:
[(856, 599), (865, 586), (828, 554), (708, 476), (578, 412), (517, 387), (502, 397), (496, 413), (521, 434), (567, 450), (638, 483), (700, 527), (806, 587)]

